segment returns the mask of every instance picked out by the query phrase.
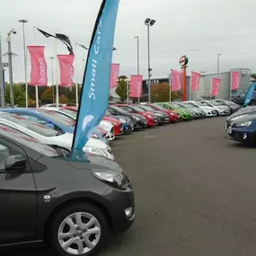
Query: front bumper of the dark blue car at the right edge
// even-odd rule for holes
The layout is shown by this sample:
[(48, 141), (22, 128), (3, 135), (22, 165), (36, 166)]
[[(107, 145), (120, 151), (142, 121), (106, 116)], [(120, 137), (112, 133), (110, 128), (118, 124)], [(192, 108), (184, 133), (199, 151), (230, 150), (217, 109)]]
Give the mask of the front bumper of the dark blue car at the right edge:
[(254, 142), (255, 131), (249, 130), (248, 128), (231, 128), (227, 129), (228, 137), (237, 142)]

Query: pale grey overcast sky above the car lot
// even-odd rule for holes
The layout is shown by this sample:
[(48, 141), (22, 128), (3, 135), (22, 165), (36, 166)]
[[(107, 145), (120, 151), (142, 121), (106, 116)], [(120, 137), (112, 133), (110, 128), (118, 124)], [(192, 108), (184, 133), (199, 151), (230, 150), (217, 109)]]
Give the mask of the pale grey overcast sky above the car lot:
[[(114, 0), (113, 0), (114, 1)], [(2, 51), (7, 51), (6, 34), (12, 36), (13, 80), (24, 81), (22, 24), (27, 19), (27, 45), (45, 45), (49, 63), (55, 55), (55, 40), (46, 39), (34, 26), (49, 33), (64, 33), (75, 42), (89, 45), (101, 0), (1, 0), (0, 32)], [(216, 55), (221, 53), (220, 71), (256, 66), (255, 0), (120, 0), (113, 62), (120, 63), (120, 75), (137, 73), (137, 40), (140, 40), (140, 70), (147, 75), (147, 37), (144, 21), (156, 23), (150, 29), (153, 77), (178, 69), (181, 55), (190, 58), (189, 72), (216, 72)], [(59, 41), (57, 53), (67, 54)], [(83, 58), (87, 52), (77, 49), (77, 77), (82, 81)], [(30, 57), (28, 58), (30, 74)], [(7, 62), (7, 57), (3, 58)], [(54, 69), (55, 71), (55, 69)], [(6, 72), (8, 80), (8, 72)]]

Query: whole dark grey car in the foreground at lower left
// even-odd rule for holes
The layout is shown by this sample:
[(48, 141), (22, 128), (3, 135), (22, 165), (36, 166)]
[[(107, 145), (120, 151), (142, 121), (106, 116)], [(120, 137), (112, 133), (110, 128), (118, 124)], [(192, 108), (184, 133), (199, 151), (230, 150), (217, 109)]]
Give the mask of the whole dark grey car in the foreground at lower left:
[(123, 169), (80, 154), (0, 125), (0, 246), (47, 240), (57, 255), (93, 255), (133, 224)]

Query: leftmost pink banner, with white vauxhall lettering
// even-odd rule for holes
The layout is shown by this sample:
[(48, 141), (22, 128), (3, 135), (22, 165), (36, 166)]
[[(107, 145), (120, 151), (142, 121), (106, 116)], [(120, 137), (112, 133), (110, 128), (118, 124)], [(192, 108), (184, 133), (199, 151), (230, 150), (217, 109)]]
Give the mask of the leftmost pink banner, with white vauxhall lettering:
[(47, 63), (44, 46), (28, 46), (31, 56), (31, 83), (33, 86), (47, 86)]

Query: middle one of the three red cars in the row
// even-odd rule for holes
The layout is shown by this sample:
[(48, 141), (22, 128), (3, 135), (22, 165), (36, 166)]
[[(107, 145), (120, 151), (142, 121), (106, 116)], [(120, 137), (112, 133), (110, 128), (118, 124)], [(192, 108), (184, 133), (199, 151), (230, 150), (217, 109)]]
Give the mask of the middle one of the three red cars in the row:
[(147, 127), (155, 127), (158, 125), (158, 119), (154, 115), (154, 112), (142, 110), (135, 104), (116, 104), (116, 106), (122, 110), (128, 111), (129, 113), (137, 113), (144, 116), (147, 121)]

